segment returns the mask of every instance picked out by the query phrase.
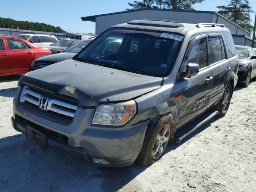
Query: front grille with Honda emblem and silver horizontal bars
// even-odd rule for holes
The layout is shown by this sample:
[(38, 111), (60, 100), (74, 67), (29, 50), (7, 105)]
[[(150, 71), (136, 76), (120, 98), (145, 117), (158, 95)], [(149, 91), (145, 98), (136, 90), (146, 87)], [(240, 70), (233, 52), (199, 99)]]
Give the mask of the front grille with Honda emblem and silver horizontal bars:
[(22, 89), (20, 105), (37, 114), (65, 124), (72, 122), (78, 106), (77, 103), (54, 97), (29, 86), (24, 86)]

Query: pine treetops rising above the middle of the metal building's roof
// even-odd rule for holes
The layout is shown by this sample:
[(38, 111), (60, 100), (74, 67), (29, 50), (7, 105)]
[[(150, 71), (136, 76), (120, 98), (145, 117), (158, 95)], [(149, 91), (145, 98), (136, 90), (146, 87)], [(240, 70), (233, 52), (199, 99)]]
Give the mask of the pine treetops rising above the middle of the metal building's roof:
[(142, 9), (142, 8), (168, 8), (168, 9), (184, 9), (194, 10), (192, 5), (201, 3), (204, 0), (142, 0), (128, 3), (132, 8), (126, 10)]

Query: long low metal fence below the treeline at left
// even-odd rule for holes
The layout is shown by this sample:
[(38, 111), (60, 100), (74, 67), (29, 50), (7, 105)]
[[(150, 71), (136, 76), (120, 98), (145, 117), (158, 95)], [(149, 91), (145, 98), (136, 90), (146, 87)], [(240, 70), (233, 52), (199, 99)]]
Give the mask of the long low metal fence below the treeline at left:
[(44, 31), (32, 31), (32, 30), (23, 30), (23, 29), (10, 29), (10, 28), (0, 28), (0, 36), (17, 36), (20, 34), (28, 34), (28, 33), (37, 33), (37, 34), (51, 34), (56, 37), (66, 37), (69, 38), (70, 34), (65, 33), (54, 33), (54, 32), (44, 32)]

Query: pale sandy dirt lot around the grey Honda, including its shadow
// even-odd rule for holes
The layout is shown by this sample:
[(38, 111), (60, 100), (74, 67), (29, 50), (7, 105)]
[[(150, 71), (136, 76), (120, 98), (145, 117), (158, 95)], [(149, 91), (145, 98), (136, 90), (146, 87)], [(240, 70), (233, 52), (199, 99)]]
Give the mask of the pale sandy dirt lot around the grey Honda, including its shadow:
[(44, 150), (14, 130), (10, 119), (18, 78), (0, 78), (0, 191), (256, 190), (256, 82), (237, 87), (224, 118), (213, 118), (182, 143), (169, 144), (152, 166), (117, 169)]

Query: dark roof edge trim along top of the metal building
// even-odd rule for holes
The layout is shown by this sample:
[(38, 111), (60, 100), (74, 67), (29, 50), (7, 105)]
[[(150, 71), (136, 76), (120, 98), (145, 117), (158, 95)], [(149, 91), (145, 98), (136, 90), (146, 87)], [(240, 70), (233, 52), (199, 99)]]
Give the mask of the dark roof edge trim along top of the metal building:
[[(82, 21), (92, 21), (96, 22), (96, 17), (101, 17), (101, 16), (108, 16), (108, 15), (115, 15), (115, 14), (122, 14), (122, 13), (129, 13), (129, 12), (136, 12), (136, 11), (144, 11), (144, 10), (157, 10), (157, 11), (170, 11), (170, 12), (191, 12), (191, 13), (209, 13), (209, 14), (216, 14), (219, 17), (222, 17), (226, 19), (228, 22), (234, 24), (238, 28), (248, 32), (244, 28), (240, 27), (239, 25), (235, 24), (234, 22), (230, 21), (226, 17), (222, 16), (218, 12), (215, 11), (196, 11), (196, 10), (176, 10), (176, 9), (155, 9), (155, 8), (143, 8), (143, 9), (136, 9), (136, 10), (128, 10), (128, 11), (121, 11), (121, 12), (114, 12), (114, 13), (108, 13), (108, 14), (100, 14), (100, 15), (92, 15), (92, 16), (86, 16), (86, 17), (81, 17)], [(248, 32), (250, 34), (250, 32)]]

